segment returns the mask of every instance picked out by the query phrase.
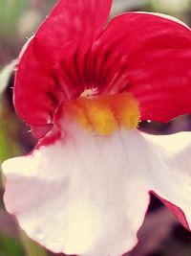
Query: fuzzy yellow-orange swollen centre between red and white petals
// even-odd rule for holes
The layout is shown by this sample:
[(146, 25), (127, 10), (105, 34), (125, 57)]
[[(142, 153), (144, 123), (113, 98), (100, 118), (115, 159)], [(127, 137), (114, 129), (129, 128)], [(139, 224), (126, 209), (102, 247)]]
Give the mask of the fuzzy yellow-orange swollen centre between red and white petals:
[(99, 135), (111, 135), (117, 128), (138, 127), (138, 102), (128, 93), (99, 97), (82, 94), (68, 104), (68, 109), (83, 128)]

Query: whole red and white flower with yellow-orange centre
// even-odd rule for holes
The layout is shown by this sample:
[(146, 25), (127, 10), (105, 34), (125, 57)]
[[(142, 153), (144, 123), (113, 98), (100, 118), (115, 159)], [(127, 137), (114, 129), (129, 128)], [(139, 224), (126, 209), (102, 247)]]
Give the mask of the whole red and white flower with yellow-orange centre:
[(58, 1), (19, 57), (14, 105), (39, 142), (4, 162), (4, 200), (54, 252), (130, 250), (150, 193), (191, 226), (191, 133), (137, 129), (191, 112), (190, 29), (146, 12), (104, 27), (111, 4)]

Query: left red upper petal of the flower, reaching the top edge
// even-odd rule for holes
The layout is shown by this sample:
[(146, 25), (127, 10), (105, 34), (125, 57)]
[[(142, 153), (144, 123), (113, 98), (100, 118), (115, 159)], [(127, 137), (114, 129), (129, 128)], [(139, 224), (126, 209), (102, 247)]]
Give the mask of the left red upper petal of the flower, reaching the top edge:
[[(35, 130), (35, 136), (41, 137), (52, 128), (60, 101), (75, 98), (83, 91), (75, 60), (83, 58), (82, 48), (92, 44), (103, 28), (111, 3), (60, 0), (23, 47), (15, 77), (14, 105), (20, 117)], [(73, 50), (79, 45), (83, 53), (76, 56)], [(57, 63), (59, 68), (53, 68), (54, 61), (60, 58), (63, 61)]]

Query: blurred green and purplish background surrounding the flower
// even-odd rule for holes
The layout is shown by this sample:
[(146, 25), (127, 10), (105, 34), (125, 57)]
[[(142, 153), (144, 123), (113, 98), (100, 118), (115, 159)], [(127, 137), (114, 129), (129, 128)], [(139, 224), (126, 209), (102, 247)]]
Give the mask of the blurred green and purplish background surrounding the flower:
[[(18, 119), (12, 107), (12, 60), (55, 3), (55, 0), (0, 0), (0, 163), (31, 151), (35, 145), (29, 128)], [(191, 0), (114, 1), (112, 15), (128, 11), (164, 12), (191, 24)], [(140, 128), (161, 134), (191, 130), (191, 118), (183, 116), (167, 125), (143, 123)], [(3, 178), (0, 181), (0, 256), (58, 255), (33, 243), (19, 229), (4, 209)], [(154, 197), (138, 239), (137, 247), (126, 256), (191, 256), (191, 234)]]

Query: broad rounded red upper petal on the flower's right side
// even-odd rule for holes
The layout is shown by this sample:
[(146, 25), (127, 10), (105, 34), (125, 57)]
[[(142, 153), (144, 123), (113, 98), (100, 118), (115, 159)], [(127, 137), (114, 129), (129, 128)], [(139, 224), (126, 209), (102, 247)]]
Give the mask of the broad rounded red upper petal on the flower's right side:
[[(104, 92), (132, 92), (141, 118), (161, 122), (191, 112), (191, 33), (175, 20), (149, 13), (117, 16), (98, 39), (112, 68)], [(116, 63), (115, 63), (116, 62)], [(106, 67), (104, 67), (106, 70)], [(112, 72), (111, 72), (112, 71)], [(116, 76), (116, 79), (114, 80)]]

